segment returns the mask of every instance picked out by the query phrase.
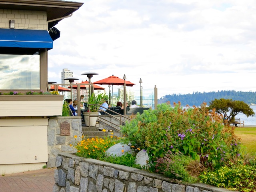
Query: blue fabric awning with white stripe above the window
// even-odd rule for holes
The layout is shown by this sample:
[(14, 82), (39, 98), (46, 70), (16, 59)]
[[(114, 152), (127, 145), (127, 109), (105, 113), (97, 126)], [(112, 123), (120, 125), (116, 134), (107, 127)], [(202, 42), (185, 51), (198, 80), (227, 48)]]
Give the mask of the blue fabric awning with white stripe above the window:
[(53, 40), (46, 30), (0, 29), (0, 47), (52, 49)]

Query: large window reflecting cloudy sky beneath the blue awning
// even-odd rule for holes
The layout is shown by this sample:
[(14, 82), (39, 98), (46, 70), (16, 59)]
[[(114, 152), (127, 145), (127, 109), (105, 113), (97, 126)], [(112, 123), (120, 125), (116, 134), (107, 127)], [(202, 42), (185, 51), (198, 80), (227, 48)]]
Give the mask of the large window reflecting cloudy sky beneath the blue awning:
[(0, 54), (0, 89), (40, 89), (40, 55)]

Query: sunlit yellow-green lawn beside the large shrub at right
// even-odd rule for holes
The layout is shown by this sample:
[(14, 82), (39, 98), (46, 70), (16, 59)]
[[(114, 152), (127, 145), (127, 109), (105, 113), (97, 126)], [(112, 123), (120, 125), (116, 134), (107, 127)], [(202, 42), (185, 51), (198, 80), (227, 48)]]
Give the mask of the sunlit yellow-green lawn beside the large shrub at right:
[(256, 127), (244, 127), (235, 129), (236, 136), (241, 138), (246, 151), (252, 155), (256, 154)]

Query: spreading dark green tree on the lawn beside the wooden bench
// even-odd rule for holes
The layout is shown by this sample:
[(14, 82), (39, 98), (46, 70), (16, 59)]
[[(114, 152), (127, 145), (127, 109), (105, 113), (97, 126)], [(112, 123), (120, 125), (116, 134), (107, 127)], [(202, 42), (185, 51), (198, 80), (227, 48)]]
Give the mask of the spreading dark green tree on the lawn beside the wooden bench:
[(232, 99), (214, 99), (210, 102), (209, 109), (215, 108), (216, 112), (226, 115), (228, 123), (233, 123), (237, 114), (243, 113), (247, 117), (254, 116), (254, 111), (248, 104), (243, 101), (237, 101)]

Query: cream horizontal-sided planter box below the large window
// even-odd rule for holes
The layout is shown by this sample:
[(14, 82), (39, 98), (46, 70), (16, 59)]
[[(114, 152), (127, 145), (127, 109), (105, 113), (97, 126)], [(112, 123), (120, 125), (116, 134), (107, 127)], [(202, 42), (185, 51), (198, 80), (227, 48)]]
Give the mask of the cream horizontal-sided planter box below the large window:
[(0, 95), (0, 117), (62, 115), (63, 95)]

